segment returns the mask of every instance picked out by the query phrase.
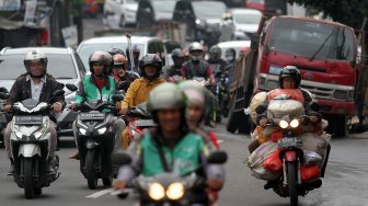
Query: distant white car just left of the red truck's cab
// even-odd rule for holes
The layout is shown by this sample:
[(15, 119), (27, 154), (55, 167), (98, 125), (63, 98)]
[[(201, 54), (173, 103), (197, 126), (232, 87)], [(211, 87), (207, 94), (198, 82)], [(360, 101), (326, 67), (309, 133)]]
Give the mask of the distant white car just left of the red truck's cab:
[(221, 41), (250, 41), (258, 30), (262, 12), (253, 9), (232, 9), (223, 15)]

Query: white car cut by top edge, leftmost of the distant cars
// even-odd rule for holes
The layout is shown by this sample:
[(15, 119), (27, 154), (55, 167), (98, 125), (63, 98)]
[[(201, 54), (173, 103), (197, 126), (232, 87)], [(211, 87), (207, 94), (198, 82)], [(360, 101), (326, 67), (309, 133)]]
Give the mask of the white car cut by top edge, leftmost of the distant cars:
[(103, 25), (113, 28), (136, 24), (137, 0), (105, 0)]

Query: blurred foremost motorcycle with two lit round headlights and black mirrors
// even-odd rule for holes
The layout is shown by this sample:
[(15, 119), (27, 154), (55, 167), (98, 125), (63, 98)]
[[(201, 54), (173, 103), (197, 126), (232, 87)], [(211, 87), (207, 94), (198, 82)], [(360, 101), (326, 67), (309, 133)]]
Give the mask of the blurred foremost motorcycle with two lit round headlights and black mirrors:
[[(131, 162), (129, 154), (124, 152), (113, 153), (112, 160), (116, 165), (127, 165)], [(223, 151), (212, 152), (208, 163), (223, 164), (227, 153)], [(207, 205), (205, 179), (195, 172), (180, 176), (172, 172), (164, 172), (154, 176), (139, 175), (131, 182), (134, 191), (139, 196), (139, 205)], [(113, 195), (126, 198), (127, 191), (114, 191)]]

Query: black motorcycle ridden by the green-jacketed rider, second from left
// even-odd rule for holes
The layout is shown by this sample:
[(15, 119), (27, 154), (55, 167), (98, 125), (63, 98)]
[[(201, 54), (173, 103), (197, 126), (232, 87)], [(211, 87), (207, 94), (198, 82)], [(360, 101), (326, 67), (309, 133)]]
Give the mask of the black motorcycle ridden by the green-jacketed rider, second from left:
[[(71, 91), (78, 90), (73, 84), (67, 84), (67, 88)], [(113, 94), (112, 99), (117, 102), (122, 101), (123, 96)], [(115, 173), (110, 160), (115, 145), (115, 134), (111, 129), (111, 118), (114, 115), (104, 113), (105, 108), (115, 110), (115, 105), (103, 101), (91, 101), (76, 108), (79, 111), (76, 128), (80, 171), (87, 179), (90, 190), (97, 187), (99, 179), (102, 179), (103, 185), (112, 185)]]

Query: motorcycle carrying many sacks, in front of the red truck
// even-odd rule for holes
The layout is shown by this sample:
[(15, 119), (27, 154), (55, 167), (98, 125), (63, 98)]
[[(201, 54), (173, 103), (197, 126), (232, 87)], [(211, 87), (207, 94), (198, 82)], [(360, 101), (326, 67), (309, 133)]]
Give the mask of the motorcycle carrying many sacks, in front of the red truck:
[[(314, 172), (312, 180), (306, 181), (306, 178), (302, 178), (306, 156), (302, 149), (303, 140), (298, 134), (300, 134), (300, 128), (303, 125), (309, 124), (309, 117), (303, 115), (303, 105), (298, 101), (281, 99), (273, 101), (269, 103), (268, 108), (263, 105), (256, 108), (258, 114), (267, 110), (267, 126), (274, 127), (280, 134), (277, 140), (277, 151), (279, 152), (277, 161), (281, 165), (281, 175), (274, 183), (273, 190), (283, 197), (289, 197), (291, 206), (297, 206), (298, 196), (304, 196), (309, 191), (318, 188), (322, 184), (320, 170), (314, 170), (317, 172)], [(271, 104), (273, 105), (271, 106)], [(280, 114), (280, 111), (274, 110), (280, 108), (281, 105), (284, 105), (283, 110), (292, 110), (292, 112)], [(327, 161), (326, 159), (324, 162)], [(325, 167), (324, 163), (323, 167)]]

